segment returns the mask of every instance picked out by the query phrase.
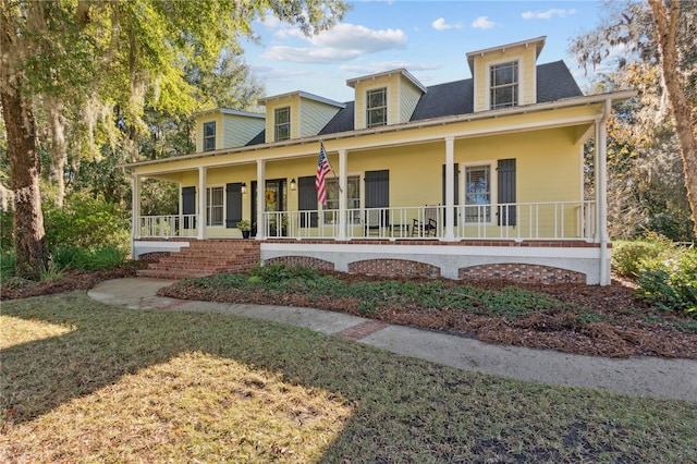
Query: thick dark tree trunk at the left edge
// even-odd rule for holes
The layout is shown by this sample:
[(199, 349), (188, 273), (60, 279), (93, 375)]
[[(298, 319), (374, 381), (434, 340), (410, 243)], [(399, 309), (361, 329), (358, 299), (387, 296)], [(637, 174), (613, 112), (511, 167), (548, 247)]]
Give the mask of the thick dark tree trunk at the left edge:
[(11, 5), (0, 2), (0, 101), (8, 134), (10, 175), (14, 191), (15, 273), (38, 279), (48, 267), (39, 192), (39, 156), (36, 150), (36, 121), (24, 90), (24, 76), (16, 65), (17, 50)]

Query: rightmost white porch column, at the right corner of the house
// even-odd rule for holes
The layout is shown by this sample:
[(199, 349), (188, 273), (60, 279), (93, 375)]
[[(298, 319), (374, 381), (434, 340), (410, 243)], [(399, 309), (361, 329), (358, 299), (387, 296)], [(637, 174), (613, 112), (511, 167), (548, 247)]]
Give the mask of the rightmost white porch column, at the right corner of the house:
[(610, 276), (610, 254), (608, 246), (608, 129), (607, 122), (610, 117), (612, 100), (604, 102), (603, 115), (596, 122), (596, 242), (600, 243), (600, 284), (609, 285)]

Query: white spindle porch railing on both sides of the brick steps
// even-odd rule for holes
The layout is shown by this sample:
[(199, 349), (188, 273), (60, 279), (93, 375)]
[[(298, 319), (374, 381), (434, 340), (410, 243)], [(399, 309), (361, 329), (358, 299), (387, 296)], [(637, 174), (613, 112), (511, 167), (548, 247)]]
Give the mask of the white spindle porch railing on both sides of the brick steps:
[[(445, 206), (273, 211), (264, 213), (264, 237), (449, 239)], [(142, 237), (196, 236), (195, 215), (140, 217)], [(595, 202), (541, 202), (453, 207), (453, 240), (591, 240)], [(211, 233), (208, 233), (211, 236)]]

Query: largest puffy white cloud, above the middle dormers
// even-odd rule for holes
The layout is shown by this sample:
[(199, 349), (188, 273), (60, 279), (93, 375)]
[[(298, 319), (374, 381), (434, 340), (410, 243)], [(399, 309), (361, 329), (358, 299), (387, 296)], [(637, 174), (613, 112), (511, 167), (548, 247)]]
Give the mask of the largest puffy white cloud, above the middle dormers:
[(353, 60), (366, 53), (400, 48), (406, 45), (407, 36), (401, 29), (370, 29), (354, 24), (338, 24), (332, 29), (307, 37), (296, 28), (282, 29), (274, 34), (279, 39), (302, 39), (310, 47), (274, 46), (261, 54), (268, 60), (298, 63), (331, 63)]

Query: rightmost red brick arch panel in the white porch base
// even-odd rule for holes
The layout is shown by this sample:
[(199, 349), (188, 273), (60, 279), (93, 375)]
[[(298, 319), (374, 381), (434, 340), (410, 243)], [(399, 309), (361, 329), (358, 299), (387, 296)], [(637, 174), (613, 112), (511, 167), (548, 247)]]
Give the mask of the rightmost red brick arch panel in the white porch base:
[(502, 279), (522, 283), (586, 283), (586, 274), (552, 266), (500, 262), (460, 268), (460, 279)]

